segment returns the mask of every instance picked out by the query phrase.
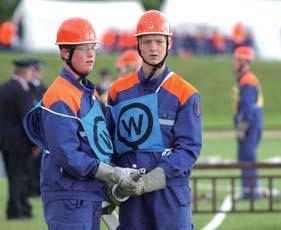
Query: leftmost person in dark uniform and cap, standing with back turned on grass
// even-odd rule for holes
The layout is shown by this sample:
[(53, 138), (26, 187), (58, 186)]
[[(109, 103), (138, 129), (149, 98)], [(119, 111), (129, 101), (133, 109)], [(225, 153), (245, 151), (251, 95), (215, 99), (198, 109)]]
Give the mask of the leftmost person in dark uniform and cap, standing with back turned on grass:
[(1, 149), (6, 166), (9, 198), (8, 219), (32, 217), (27, 198), (27, 178), (32, 151), (36, 150), (23, 128), (23, 117), (34, 104), (29, 87), (32, 65), (27, 60), (14, 61), (12, 78), (0, 87)]

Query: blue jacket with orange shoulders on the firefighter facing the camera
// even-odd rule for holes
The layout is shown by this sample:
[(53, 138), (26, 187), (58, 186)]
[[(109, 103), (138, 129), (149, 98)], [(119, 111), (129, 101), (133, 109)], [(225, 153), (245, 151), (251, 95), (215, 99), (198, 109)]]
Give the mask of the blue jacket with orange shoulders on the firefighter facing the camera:
[[(160, 78), (144, 83), (142, 71), (116, 81), (110, 88), (108, 104), (114, 106), (121, 101), (154, 93), (165, 77), (170, 73), (168, 68)], [(161, 153), (141, 150), (114, 154), (112, 161), (122, 167), (164, 169), (167, 184), (187, 185), (192, 166), (201, 150), (201, 111), (198, 91), (177, 74), (173, 74), (158, 92), (158, 116), (161, 133), (166, 148), (172, 152), (168, 156)], [(108, 119), (109, 121), (111, 119)], [(110, 132), (114, 132), (113, 121), (109, 123)]]

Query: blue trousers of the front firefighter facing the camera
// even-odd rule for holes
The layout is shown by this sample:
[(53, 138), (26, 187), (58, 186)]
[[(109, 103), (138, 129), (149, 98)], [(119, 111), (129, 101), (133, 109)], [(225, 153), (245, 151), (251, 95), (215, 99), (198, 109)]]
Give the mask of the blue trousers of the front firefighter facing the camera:
[(131, 197), (119, 209), (119, 230), (193, 229), (188, 185)]

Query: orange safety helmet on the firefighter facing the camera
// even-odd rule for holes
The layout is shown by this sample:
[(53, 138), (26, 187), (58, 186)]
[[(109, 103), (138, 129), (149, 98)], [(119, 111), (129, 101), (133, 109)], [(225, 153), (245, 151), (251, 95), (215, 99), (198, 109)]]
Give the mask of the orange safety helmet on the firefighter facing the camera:
[(170, 25), (164, 14), (158, 10), (149, 10), (141, 16), (137, 24), (135, 36), (138, 37), (145, 34), (172, 36)]

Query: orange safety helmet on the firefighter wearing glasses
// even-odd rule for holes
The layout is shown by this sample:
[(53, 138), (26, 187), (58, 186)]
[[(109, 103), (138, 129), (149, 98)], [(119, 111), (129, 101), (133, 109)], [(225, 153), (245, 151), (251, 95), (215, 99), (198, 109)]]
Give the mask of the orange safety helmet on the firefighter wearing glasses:
[(57, 32), (56, 45), (78, 45), (98, 43), (91, 23), (83, 18), (69, 18), (63, 21)]

